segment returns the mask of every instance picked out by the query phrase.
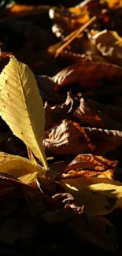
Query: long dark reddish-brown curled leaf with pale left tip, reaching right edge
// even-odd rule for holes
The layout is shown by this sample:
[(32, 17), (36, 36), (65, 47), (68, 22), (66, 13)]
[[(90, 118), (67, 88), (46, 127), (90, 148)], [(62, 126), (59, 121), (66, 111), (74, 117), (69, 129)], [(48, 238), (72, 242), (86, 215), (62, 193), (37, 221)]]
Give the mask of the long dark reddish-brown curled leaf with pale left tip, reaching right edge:
[(104, 80), (121, 82), (122, 68), (108, 63), (78, 63), (71, 65), (53, 77), (56, 89), (70, 83), (79, 83), (81, 88), (102, 87)]

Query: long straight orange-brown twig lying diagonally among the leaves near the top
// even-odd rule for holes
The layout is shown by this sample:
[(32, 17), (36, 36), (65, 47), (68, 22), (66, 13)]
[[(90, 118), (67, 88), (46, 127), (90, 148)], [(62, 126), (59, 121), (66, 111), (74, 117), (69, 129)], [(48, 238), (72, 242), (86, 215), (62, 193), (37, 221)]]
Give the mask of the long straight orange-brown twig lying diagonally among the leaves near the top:
[[(64, 50), (65, 47), (69, 45), (69, 43), (72, 43), (72, 41), (73, 41), (74, 39), (76, 39), (76, 37), (77, 37), (81, 32), (83, 32), (83, 30), (84, 30), (85, 28), (87, 28), (94, 20), (96, 20), (96, 17), (95, 17), (95, 16), (92, 17), (91, 20), (87, 21), (86, 24), (83, 24), (78, 30), (76, 30), (75, 35), (73, 35), (72, 37), (70, 36), (71, 34), (68, 35), (68, 36), (69, 36), (68, 41), (66, 41), (60, 48), (57, 49), (56, 54), (55, 54), (55, 57), (57, 57), (58, 54), (61, 53), (61, 50)], [(65, 39), (66, 39), (66, 38), (65, 38)]]

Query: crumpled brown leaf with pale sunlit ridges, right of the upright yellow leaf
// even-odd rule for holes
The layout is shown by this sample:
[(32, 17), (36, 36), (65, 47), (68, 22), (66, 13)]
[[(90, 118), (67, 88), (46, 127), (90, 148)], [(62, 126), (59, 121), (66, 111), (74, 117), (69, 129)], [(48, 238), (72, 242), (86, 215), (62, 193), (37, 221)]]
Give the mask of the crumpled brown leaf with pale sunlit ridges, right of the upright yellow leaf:
[(43, 146), (46, 153), (67, 155), (85, 153), (89, 148), (83, 133), (67, 120), (45, 132)]

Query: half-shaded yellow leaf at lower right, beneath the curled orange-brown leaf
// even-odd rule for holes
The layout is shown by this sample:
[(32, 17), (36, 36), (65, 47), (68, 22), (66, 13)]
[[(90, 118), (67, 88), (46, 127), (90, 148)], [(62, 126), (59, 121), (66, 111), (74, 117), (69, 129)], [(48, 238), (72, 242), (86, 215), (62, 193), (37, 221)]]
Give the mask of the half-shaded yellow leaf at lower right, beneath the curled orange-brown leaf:
[(122, 208), (122, 183), (119, 181), (91, 177), (59, 180), (59, 183), (91, 216)]

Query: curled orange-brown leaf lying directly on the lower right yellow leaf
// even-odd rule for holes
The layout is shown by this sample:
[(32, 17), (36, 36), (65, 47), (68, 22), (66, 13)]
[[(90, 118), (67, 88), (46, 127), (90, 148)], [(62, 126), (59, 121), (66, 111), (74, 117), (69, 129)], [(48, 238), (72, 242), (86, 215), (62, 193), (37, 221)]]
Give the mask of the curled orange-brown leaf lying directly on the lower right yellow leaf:
[(91, 177), (113, 179), (117, 161), (111, 161), (93, 154), (79, 154), (58, 176), (59, 179), (71, 177)]

